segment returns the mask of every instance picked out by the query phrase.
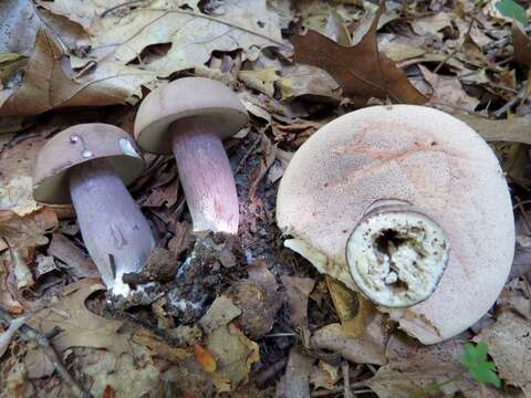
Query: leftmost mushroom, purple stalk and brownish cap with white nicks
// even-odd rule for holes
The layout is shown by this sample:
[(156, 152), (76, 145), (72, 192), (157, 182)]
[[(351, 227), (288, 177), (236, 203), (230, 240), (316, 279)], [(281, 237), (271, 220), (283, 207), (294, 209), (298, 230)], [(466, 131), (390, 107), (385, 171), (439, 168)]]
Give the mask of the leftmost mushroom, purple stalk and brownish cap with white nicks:
[(41, 149), (33, 172), (35, 200), (72, 201), (86, 249), (115, 296), (127, 296), (122, 276), (139, 272), (155, 241), (126, 185), (144, 169), (132, 137), (91, 123), (59, 133)]

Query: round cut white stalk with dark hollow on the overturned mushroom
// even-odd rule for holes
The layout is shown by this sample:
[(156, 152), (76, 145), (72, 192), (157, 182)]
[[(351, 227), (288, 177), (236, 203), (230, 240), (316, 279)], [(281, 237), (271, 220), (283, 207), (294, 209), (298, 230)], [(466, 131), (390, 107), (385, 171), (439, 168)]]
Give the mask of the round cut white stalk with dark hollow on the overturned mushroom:
[(444, 230), (424, 212), (397, 200), (373, 206), (346, 244), (356, 286), (386, 307), (410, 306), (428, 298), (448, 255)]

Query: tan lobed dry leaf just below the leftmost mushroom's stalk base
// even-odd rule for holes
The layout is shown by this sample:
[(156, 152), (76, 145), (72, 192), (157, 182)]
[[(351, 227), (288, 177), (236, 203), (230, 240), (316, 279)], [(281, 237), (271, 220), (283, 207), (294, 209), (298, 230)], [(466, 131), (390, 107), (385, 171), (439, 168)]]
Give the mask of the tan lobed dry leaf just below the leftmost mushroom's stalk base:
[(28, 322), (31, 326), (50, 333), (61, 329), (52, 343), (60, 353), (69, 347), (106, 348), (122, 354), (129, 349), (129, 337), (118, 333), (121, 321), (98, 316), (85, 306), (94, 292), (105, 290), (96, 279), (84, 279), (64, 287), (61, 298), (50, 307), (38, 311)]

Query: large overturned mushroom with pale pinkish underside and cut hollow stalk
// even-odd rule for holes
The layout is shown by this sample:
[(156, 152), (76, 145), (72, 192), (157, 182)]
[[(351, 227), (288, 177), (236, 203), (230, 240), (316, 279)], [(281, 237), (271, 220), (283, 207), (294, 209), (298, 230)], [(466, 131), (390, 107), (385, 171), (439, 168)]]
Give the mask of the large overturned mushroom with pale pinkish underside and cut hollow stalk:
[(514, 251), (499, 163), (440, 111), (374, 106), (323, 126), (281, 180), (284, 244), (360, 291), (424, 344), (494, 303)]

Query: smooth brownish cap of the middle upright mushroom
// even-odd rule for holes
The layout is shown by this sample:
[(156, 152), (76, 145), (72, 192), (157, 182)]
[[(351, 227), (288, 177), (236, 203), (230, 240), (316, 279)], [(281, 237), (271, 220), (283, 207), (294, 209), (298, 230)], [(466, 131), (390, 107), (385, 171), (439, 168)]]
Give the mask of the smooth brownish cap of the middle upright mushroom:
[(238, 133), (248, 121), (230, 88), (210, 78), (184, 77), (154, 90), (143, 101), (135, 119), (136, 142), (149, 153), (170, 154), (168, 127), (186, 117), (210, 119), (221, 139)]

